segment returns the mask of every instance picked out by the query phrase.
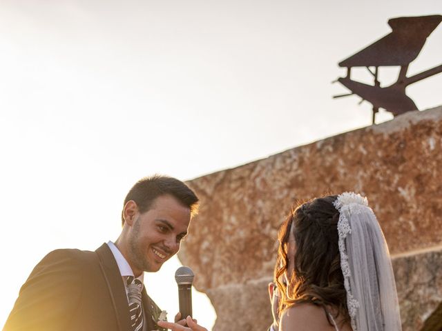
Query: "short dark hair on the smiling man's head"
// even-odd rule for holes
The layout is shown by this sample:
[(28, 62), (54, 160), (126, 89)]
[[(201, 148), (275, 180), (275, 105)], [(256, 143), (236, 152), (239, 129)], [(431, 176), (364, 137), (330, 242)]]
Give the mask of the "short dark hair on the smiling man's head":
[[(191, 217), (198, 213), (198, 197), (196, 194), (182, 181), (155, 174), (151, 177), (144, 177), (137, 181), (135, 185), (129, 190), (124, 199), (124, 206), (128, 201), (135, 201), (140, 213), (148, 211), (153, 201), (165, 194), (170, 194), (180, 201), (184, 207), (191, 210)], [(122, 224), (124, 224), (124, 215), (122, 212)]]

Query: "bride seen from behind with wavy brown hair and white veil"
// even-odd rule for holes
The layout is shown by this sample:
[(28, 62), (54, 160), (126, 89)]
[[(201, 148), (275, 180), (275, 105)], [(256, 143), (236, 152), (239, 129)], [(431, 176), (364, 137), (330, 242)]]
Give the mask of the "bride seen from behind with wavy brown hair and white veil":
[[(401, 331), (390, 254), (366, 198), (345, 192), (304, 203), (278, 239), (279, 331)], [(158, 325), (206, 331), (186, 323)]]

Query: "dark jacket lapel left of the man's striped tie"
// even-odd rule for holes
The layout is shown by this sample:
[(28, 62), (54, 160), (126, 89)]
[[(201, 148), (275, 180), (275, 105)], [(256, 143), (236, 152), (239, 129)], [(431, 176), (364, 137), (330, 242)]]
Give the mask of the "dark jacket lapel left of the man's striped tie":
[(103, 276), (108, 285), (109, 295), (113, 301), (112, 304), (119, 328), (121, 331), (131, 330), (131, 317), (129, 314), (126, 288), (124, 288), (117, 261), (115, 261), (112, 251), (106, 243), (95, 250), (95, 252), (97, 252), (102, 266)]

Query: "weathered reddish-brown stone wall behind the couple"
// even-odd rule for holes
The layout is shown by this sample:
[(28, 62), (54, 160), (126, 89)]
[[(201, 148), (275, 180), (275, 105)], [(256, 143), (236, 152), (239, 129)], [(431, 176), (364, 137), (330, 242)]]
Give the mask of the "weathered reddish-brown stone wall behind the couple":
[(348, 190), (368, 197), (383, 228), (394, 257), (403, 330), (423, 330), (435, 316), (442, 301), (442, 107), (408, 112), (189, 185), (202, 203), (179, 258), (197, 275), (195, 288), (213, 303), (213, 330), (267, 330), (278, 226), (295, 201)]

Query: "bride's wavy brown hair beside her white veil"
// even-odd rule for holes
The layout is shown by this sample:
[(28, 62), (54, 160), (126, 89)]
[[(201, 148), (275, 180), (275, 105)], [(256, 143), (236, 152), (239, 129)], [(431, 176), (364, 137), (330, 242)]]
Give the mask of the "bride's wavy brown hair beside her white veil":
[[(335, 317), (349, 321), (338, 248), (339, 212), (333, 205), (336, 198), (331, 195), (303, 203), (281, 225), (274, 274), (281, 294), (280, 312), (297, 303), (313, 303), (326, 312), (327, 307), (332, 307)], [(294, 270), (287, 270), (290, 231), (294, 232), (296, 246), (294, 257), (291, 257)], [(282, 281), (285, 272), (291, 274), (289, 293), (287, 284)]]

